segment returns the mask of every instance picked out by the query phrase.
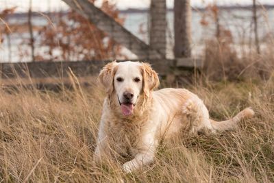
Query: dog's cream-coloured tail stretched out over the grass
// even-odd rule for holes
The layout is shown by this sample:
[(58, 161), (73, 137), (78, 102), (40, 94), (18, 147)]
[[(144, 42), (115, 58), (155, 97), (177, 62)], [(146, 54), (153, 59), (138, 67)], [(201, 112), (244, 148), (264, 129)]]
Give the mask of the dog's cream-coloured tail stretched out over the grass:
[(244, 110), (240, 111), (238, 114), (236, 114), (235, 117), (232, 119), (226, 120), (226, 121), (214, 121), (210, 119), (210, 123), (214, 130), (217, 132), (222, 132), (225, 130), (232, 130), (236, 127), (237, 123), (241, 119), (248, 119), (253, 117), (255, 112), (251, 108), (245, 108)]

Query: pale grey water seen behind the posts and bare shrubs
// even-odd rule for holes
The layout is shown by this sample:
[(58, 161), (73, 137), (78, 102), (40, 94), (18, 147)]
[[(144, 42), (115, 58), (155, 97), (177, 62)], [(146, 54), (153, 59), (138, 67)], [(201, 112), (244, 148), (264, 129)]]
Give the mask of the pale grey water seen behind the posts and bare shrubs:
[[(206, 12), (192, 11), (192, 54), (193, 56), (201, 55), (206, 40), (214, 38), (216, 34), (216, 23), (213, 21), (213, 17), (207, 14), (206, 21), (207, 26), (201, 25), (201, 19), (205, 16)], [(145, 42), (149, 42), (149, 14), (143, 13), (121, 13), (121, 17), (125, 18), (124, 26), (134, 35)], [(173, 58), (173, 45), (174, 45), (174, 34), (173, 34), (173, 12), (168, 12), (167, 15), (168, 26), (166, 29), (167, 33), (167, 57)], [(253, 42), (253, 21), (251, 10), (220, 10), (219, 23), (222, 29), (229, 31), (232, 35), (232, 42), (236, 46), (247, 45)], [(47, 25), (47, 19), (45, 16), (34, 16), (33, 20), (34, 26)], [(54, 19), (51, 20), (54, 23)], [(17, 17), (16, 19), (9, 19), (8, 23), (23, 24), (27, 22), (27, 17)], [(274, 29), (274, 10), (258, 11), (258, 32), (260, 42), (265, 42), (268, 40), (268, 35), (273, 34)], [(21, 44), (22, 40), (29, 39), (28, 33), (23, 34), (11, 34), (11, 51), (12, 51), (12, 62), (28, 62), (31, 60), (29, 57), (25, 56), (19, 57), (21, 54), (21, 49), (18, 49), (18, 45)], [(25, 45), (24, 50), (28, 50), (28, 46)], [(36, 49), (36, 51), (42, 51), (47, 48)], [(29, 49), (30, 51), (30, 49)], [(127, 54), (128, 58), (136, 58), (134, 54), (123, 49), (124, 53)], [(58, 51), (55, 52), (58, 54)], [(9, 50), (8, 42), (4, 37), (3, 44), (0, 49), (0, 62), (9, 61)]]

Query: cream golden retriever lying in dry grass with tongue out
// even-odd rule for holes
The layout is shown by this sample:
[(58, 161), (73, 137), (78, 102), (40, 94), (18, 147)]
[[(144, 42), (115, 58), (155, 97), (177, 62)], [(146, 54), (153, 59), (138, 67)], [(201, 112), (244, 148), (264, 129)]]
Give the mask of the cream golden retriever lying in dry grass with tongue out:
[[(158, 74), (142, 62), (111, 62), (99, 74), (107, 97), (99, 125), (95, 158), (103, 155), (129, 154), (132, 160), (123, 164), (125, 172), (153, 162), (160, 140), (179, 130), (190, 134), (214, 134), (236, 127), (242, 118), (254, 112), (246, 108), (227, 121), (213, 121), (197, 95), (182, 88), (164, 88)], [(113, 153), (112, 153), (113, 154)]]

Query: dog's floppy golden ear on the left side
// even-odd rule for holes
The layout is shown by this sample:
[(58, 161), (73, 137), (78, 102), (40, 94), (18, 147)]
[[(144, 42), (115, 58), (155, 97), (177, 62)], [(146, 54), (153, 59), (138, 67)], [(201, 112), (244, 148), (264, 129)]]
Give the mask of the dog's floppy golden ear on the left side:
[(105, 91), (110, 95), (114, 90), (113, 80), (116, 73), (117, 62), (113, 61), (106, 64), (99, 73), (99, 82), (104, 86)]

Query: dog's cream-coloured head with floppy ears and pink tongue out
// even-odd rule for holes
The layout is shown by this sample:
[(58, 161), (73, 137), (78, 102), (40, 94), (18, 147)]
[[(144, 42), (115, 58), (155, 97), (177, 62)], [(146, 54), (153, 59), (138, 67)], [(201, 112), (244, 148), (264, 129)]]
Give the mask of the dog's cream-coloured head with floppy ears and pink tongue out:
[(140, 97), (149, 97), (151, 90), (159, 85), (158, 75), (149, 64), (130, 61), (105, 65), (99, 81), (124, 116), (134, 114), (136, 105), (142, 105), (138, 102)]

